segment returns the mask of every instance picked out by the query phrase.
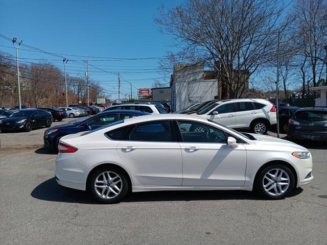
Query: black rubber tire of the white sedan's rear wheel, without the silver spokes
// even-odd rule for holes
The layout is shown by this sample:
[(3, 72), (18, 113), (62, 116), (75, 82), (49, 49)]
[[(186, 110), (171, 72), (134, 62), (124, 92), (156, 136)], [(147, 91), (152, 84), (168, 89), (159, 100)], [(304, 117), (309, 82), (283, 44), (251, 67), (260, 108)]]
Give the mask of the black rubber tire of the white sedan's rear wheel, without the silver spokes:
[[(97, 177), (99, 177), (102, 173), (104, 173), (106, 171), (110, 171), (111, 173), (118, 175), (119, 178), (121, 179), (121, 185), (120, 185), (121, 191), (119, 192), (118, 195), (116, 195), (116, 197), (113, 197), (111, 199), (101, 198), (99, 196), (99, 194), (96, 192), (96, 188), (94, 187)], [(107, 185), (109, 185), (109, 186), (105, 187), (106, 190), (104, 191), (104, 194), (106, 194), (111, 187), (110, 182)], [(99, 189), (101, 190), (102, 188), (97, 188), (97, 189), (99, 191)], [(97, 201), (100, 201), (102, 203), (106, 203), (106, 204), (119, 203), (127, 194), (128, 189), (129, 189), (128, 181), (127, 181), (127, 177), (126, 177), (124, 171), (122, 171), (120, 168), (115, 167), (115, 166), (108, 165), (108, 166), (101, 167), (101, 168), (97, 169), (96, 171), (94, 171), (94, 173), (92, 173), (91, 176), (89, 177), (88, 190), (91, 193), (93, 198), (95, 198)], [(115, 189), (115, 191), (116, 191), (116, 189)], [(111, 192), (109, 192), (109, 193), (111, 193)]]

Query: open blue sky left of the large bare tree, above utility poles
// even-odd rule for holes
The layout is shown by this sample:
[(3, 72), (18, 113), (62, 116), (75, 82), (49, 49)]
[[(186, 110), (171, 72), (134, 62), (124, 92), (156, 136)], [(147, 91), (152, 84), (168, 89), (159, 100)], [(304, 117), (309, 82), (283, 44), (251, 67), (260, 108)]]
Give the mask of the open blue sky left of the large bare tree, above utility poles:
[[(129, 93), (132, 82), (136, 88), (151, 87), (150, 78), (162, 75), (157, 70), (158, 60), (138, 61), (92, 61), (97, 58), (73, 57), (69, 55), (143, 58), (161, 57), (169, 47), (171, 37), (161, 34), (153, 17), (161, 4), (166, 8), (182, 0), (124, 0), (124, 1), (4, 1), (0, 0), (0, 33), (17, 37), (24, 44), (46, 52), (68, 54), (66, 69), (71, 76), (84, 76), (85, 62), (108, 72), (89, 67), (92, 79), (101, 82), (107, 91), (118, 91), (116, 72), (122, 75), (122, 93)], [(0, 37), (0, 45), (12, 43)], [(62, 68), (60, 57), (30, 52), (20, 47), (19, 57), (25, 62), (31, 59), (48, 59)], [(0, 50), (15, 55), (13, 48), (0, 46)], [(53, 60), (53, 61), (51, 61)], [(143, 80), (146, 79), (146, 80)], [(112, 94), (113, 99), (117, 94)]]

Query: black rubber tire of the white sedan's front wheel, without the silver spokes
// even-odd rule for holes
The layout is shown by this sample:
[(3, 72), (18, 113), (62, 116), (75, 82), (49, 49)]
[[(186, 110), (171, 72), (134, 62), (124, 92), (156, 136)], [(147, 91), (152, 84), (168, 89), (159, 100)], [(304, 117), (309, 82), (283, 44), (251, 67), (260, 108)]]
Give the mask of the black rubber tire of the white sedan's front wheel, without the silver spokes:
[[(277, 180), (278, 178), (274, 179), (274, 183), (272, 183), (271, 185), (268, 185), (267, 186), (267, 188), (269, 189), (272, 185), (276, 185), (276, 189), (279, 191), (279, 194), (278, 195), (269, 194), (269, 193), (267, 193), (267, 191), (264, 188), (264, 184), (265, 183), (268, 184), (268, 182), (269, 182), (266, 179), (264, 179), (265, 176), (267, 175), (267, 173), (269, 171), (274, 172), (275, 169), (281, 169), (281, 170), (285, 171), (287, 173), (288, 177), (289, 177), (289, 181), (288, 181), (289, 186), (287, 187), (287, 189), (285, 190), (284, 193), (281, 193), (280, 190), (279, 190), (279, 188), (278, 188), (278, 184), (279, 184), (279, 187), (282, 187), (281, 183), (279, 183), (278, 181), (283, 182), (280, 179)], [(281, 173), (281, 171), (279, 171), (278, 173)], [(284, 175), (284, 177), (285, 177), (285, 175)], [(283, 164), (274, 164), (274, 165), (270, 165), (270, 166), (267, 166), (267, 167), (263, 168), (258, 173), (258, 175), (256, 176), (255, 182), (254, 182), (254, 189), (260, 195), (262, 195), (262, 197), (264, 197), (266, 199), (272, 199), (272, 200), (283, 199), (283, 198), (287, 197), (293, 191), (294, 186), (295, 186), (295, 177), (294, 177), (294, 174), (293, 174), (293, 172), (292, 172), (292, 170), (290, 168), (286, 167)], [(282, 188), (285, 188), (285, 187), (282, 187)], [(272, 192), (275, 192), (275, 191), (272, 190)]]

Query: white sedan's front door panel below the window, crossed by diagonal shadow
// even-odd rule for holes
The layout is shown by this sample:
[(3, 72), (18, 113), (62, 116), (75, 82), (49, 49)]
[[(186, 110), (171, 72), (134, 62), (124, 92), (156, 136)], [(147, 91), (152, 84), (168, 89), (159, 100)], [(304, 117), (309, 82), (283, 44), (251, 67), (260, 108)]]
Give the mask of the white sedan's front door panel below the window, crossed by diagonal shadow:
[[(179, 143), (183, 157), (183, 186), (243, 186), (246, 150), (219, 143)], [(192, 146), (198, 149), (189, 149)]]

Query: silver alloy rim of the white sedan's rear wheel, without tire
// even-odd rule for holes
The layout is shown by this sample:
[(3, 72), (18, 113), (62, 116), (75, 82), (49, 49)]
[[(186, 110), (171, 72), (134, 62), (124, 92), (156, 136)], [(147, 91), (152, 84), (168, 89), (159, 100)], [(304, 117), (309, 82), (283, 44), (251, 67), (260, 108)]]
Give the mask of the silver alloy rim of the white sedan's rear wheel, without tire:
[(123, 181), (115, 172), (105, 171), (96, 178), (94, 189), (100, 198), (104, 200), (114, 199), (121, 193)]

